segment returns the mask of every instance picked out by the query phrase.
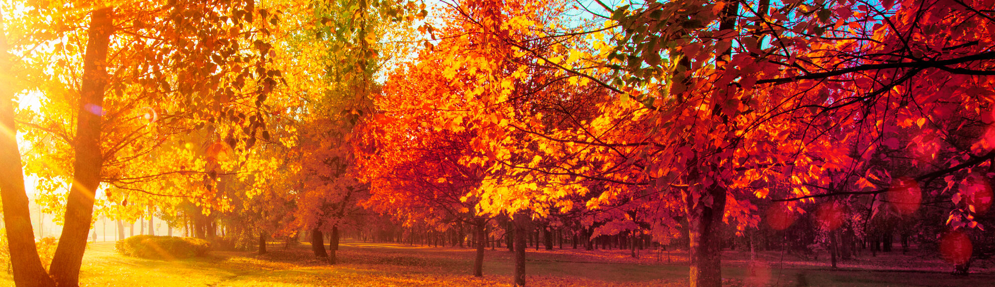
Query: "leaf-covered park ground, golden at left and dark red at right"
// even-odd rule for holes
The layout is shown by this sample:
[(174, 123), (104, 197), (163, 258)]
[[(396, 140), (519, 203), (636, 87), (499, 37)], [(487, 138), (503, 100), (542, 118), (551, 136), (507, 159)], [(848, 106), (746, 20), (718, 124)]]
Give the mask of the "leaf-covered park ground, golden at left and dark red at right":
[[(121, 256), (111, 242), (91, 243), (84, 257), (84, 286), (509, 286), (511, 253), (488, 249), (485, 276), (469, 275), (475, 250), (393, 243), (343, 242), (340, 263), (327, 265), (309, 255), (306, 244), (271, 244), (267, 255), (213, 252), (208, 257), (161, 261)], [(648, 250), (641, 258), (628, 250), (527, 249), (529, 286), (685, 286), (687, 253)], [(948, 274), (949, 264), (930, 253), (863, 254), (833, 270), (828, 258), (803, 260), (791, 254), (760, 252), (750, 272), (749, 254), (723, 254), (728, 286), (987, 286), (995, 282), (988, 262), (968, 277)], [(659, 260), (659, 261), (658, 261)], [(13, 286), (0, 272), (0, 286)]]

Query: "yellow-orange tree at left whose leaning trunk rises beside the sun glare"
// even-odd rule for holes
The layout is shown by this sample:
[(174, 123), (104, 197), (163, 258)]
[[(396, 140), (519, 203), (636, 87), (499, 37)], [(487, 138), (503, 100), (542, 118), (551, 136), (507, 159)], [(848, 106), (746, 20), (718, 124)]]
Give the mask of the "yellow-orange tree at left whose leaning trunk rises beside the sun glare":
[[(194, 11), (205, 7), (234, 9), (197, 13), (200, 17), (193, 17)], [(48, 136), (58, 138), (55, 146), (48, 149), (54, 152), (55, 159), (34, 161), (45, 163), (48, 168), (32, 171), (29, 166), (29, 172), (46, 173), (42, 177), (50, 180), (54, 177), (73, 179), (66, 202), (66, 227), (50, 272), (55, 278), (54, 283), (77, 285), (80, 260), (89, 235), (95, 194), (100, 191), (100, 182), (121, 183), (149, 177), (132, 173), (134, 178), (116, 178), (114, 174), (128, 161), (140, 158), (162, 144), (165, 141), (163, 134), (175, 133), (171, 128), (176, 128), (176, 125), (195, 126), (213, 119), (211, 114), (204, 113), (204, 107), (218, 107), (222, 95), (234, 95), (232, 89), (214, 92), (222, 80), (231, 80), (236, 87), (244, 86), (242, 82), (249, 70), (243, 71), (242, 65), (256, 66), (259, 68), (256, 72), (266, 74), (267, 44), (256, 42), (260, 48), (256, 51), (258, 54), (239, 52), (241, 40), (236, 37), (242, 36), (240, 31), (243, 29), (246, 35), (258, 33), (249, 32), (250, 27), (240, 23), (243, 19), (252, 22), (253, 15), (261, 14), (261, 18), (276, 23), (276, 15), (268, 15), (265, 10), (257, 11), (252, 1), (223, 1), (193, 6), (151, 2), (34, 5), (24, 7), (24, 10), (25, 15), (18, 15), (23, 16), (22, 19), (43, 20), (44, 16), (50, 16), (58, 20), (25, 26), (37, 29), (37, 32), (32, 31), (35, 34), (28, 33), (25, 40), (54, 47), (52, 53), (37, 54), (39, 60), (58, 60), (50, 62), (52, 66), (48, 67), (54, 68), (55, 76), (46, 74), (44, 68), (28, 70), (37, 73), (26, 73), (27, 78), (46, 82), (42, 92), (48, 94), (51, 101), (41, 110), (41, 118), (29, 119), (25, 123), (38, 127), (36, 133), (29, 133), (28, 137), (38, 136), (40, 144), (42, 140), (48, 140)], [(128, 17), (129, 22), (118, 16)], [(223, 23), (221, 18), (232, 21)], [(75, 19), (89, 19), (90, 25), (81, 28), (65, 25)], [(261, 28), (265, 30), (265, 27)], [(218, 41), (216, 36), (234, 39)], [(85, 51), (81, 44), (84, 42), (87, 43)], [(29, 47), (31, 42), (21, 44)], [(149, 64), (153, 62), (149, 60), (157, 60), (154, 63), (161, 66), (151, 66)], [(81, 64), (82, 73), (62, 69), (68, 63)], [(197, 65), (186, 65), (190, 63)], [(217, 70), (219, 67), (221, 72)], [(166, 71), (165, 75), (163, 71)], [(201, 78), (211, 80), (202, 81)], [(262, 88), (262, 85), (269, 89), (276, 84), (274, 78), (262, 78), (259, 91), (264, 100), (265, 92), (269, 90)], [(80, 86), (79, 93), (68, 88), (75, 84)], [(163, 94), (174, 96), (176, 100), (159, 100), (158, 96)], [(230, 98), (224, 101), (228, 100)], [(257, 106), (262, 100), (259, 102)], [(220, 110), (215, 109), (215, 112)], [(75, 129), (42, 122), (73, 119), (78, 122)], [(69, 130), (75, 130), (75, 134)], [(67, 152), (74, 152), (72, 159), (67, 158)], [(166, 172), (173, 173), (176, 171)], [(27, 256), (31, 257), (30, 254)], [(24, 267), (15, 269), (26, 270)], [(46, 283), (47, 275), (32, 276), (38, 284), (52, 283)]]

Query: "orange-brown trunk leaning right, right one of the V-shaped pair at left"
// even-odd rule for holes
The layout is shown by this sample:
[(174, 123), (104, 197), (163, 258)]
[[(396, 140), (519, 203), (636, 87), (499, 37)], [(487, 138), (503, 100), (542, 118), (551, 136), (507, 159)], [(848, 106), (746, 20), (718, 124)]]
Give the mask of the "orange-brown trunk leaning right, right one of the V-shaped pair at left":
[(90, 15), (77, 116), (73, 185), (66, 202), (62, 236), (50, 268), (59, 286), (80, 285), (80, 265), (87, 248), (87, 231), (94, 217), (94, 193), (100, 187), (100, 116), (103, 113), (103, 88), (108, 77), (105, 66), (107, 43), (113, 33), (112, 13), (113, 8), (108, 7), (95, 10)]

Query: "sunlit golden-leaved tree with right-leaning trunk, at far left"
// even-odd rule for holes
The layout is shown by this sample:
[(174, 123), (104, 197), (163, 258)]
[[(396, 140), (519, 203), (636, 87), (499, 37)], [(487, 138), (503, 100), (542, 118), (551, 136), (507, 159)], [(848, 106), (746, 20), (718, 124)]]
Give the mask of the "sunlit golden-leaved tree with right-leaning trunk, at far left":
[[(37, 26), (26, 26), (43, 29), (40, 31), (29, 31), (27, 35), (35, 37), (35, 39), (42, 42), (54, 43), (57, 48), (55, 49), (55, 54), (67, 56), (60, 62), (52, 63), (66, 64), (67, 61), (72, 61), (80, 63), (84, 67), (82, 75), (74, 74), (72, 71), (61, 70), (65, 66), (58, 65), (55, 65), (55, 73), (59, 75), (57, 77), (48, 77), (44, 69), (39, 69), (42, 72), (28, 75), (28, 77), (52, 78), (54, 82), (47, 87), (62, 86), (62, 89), (44, 90), (51, 92), (49, 93), (52, 96), (50, 98), (67, 100), (74, 98), (79, 100), (75, 102), (75, 105), (63, 102), (62, 104), (52, 106), (53, 109), (46, 110), (47, 112), (51, 112), (46, 114), (52, 116), (48, 119), (55, 120), (56, 122), (65, 122), (59, 119), (60, 116), (75, 114), (77, 126), (73, 135), (65, 132), (71, 130), (68, 128), (49, 128), (50, 125), (27, 124), (59, 137), (63, 141), (61, 144), (71, 145), (73, 147), (72, 151), (75, 152), (72, 154), (72, 161), (74, 162), (72, 165), (72, 174), (69, 175), (68, 173), (70, 169), (61, 169), (60, 171), (62, 172), (59, 174), (59, 176), (65, 177), (64, 179), (72, 178), (73, 185), (70, 188), (69, 200), (66, 205), (66, 219), (64, 221), (66, 227), (64, 228), (64, 233), (50, 270), (53, 278), (56, 280), (55, 283), (67, 286), (78, 285), (80, 262), (85, 250), (86, 239), (89, 235), (88, 230), (93, 215), (95, 194), (100, 191), (100, 182), (112, 181), (108, 180), (107, 175), (102, 173), (107, 171), (104, 167), (120, 165), (136, 157), (135, 154), (121, 155), (118, 153), (119, 151), (126, 150), (136, 152), (140, 155), (147, 153), (157, 146), (155, 144), (145, 146), (145, 148), (142, 148), (142, 145), (129, 146), (128, 144), (134, 143), (139, 139), (155, 138), (157, 134), (148, 130), (141, 130), (141, 128), (135, 130), (133, 127), (127, 127), (128, 124), (133, 123), (133, 120), (124, 120), (128, 118), (122, 113), (136, 108), (134, 105), (137, 102), (149, 100), (150, 95), (162, 91), (166, 94), (176, 95), (179, 98), (186, 98), (185, 101), (177, 100), (180, 103), (187, 103), (187, 105), (178, 106), (181, 111), (177, 112), (177, 114), (194, 118), (198, 117), (195, 115), (203, 116), (201, 108), (211, 105), (208, 104), (210, 102), (209, 99), (214, 98), (216, 99), (214, 102), (218, 103), (218, 97), (212, 96), (209, 91), (217, 90), (214, 87), (221, 84), (222, 79), (234, 79), (234, 77), (237, 77), (227, 76), (231, 75), (236, 66), (239, 66), (237, 63), (243, 62), (241, 58), (243, 55), (241, 53), (232, 53), (237, 51), (237, 49), (229, 50), (231, 47), (238, 47), (240, 40), (227, 41), (225, 39), (225, 41), (219, 42), (215, 40), (204, 41), (204, 39), (214, 39), (215, 34), (212, 33), (222, 35), (221, 31), (224, 31), (226, 37), (237, 39), (239, 31), (242, 29), (248, 31), (250, 29), (249, 26), (243, 26), (240, 21), (245, 19), (247, 22), (251, 22), (252, 16), (256, 14), (260, 14), (261, 18), (264, 19), (275, 19), (274, 15), (268, 16), (265, 15), (267, 14), (265, 11), (257, 11), (253, 7), (252, 1), (246, 3), (246, 6), (241, 6), (243, 3), (218, 2), (204, 4), (214, 5), (212, 7), (235, 7), (236, 9), (207, 9), (207, 11), (213, 11), (214, 13), (198, 14), (200, 17), (184, 18), (180, 16), (184, 15), (184, 13), (191, 14), (194, 9), (201, 9), (203, 6), (142, 2), (121, 5), (119, 7), (106, 7), (102, 3), (97, 3), (95, 6), (81, 7), (69, 5), (65, 7), (29, 7), (29, 11), (25, 13), (25, 17), (32, 20), (45, 21), (44, 19), (46, 18), (44, 16), (51, 16), (51, 19), (58, 20), (41, 22)], [(222, 11), (238, 11), (239, 15), (237, 17), (231, 17), (231, 19), (234, 19), (233, 22), (235, 25), (226, 24), (220, 20), (221, 16), (224, 16), (226, 21), (229, 19), (229, 15), (223, 15)], [(83, 38), (83, 33), (78, 33), (73, 29), (60, 28), (60, 25), (65, 23), (61, 22), (62, 20), (74, 19), (82, 15), (90, 15), (90, 25), (86, 28), (80, 28), (81, 31), (87, 34), (86, 38)], [(118, 17), (121, 15), (135, 18), (130, 26), (115, 25), (114, 19), (119, 19)], [(156, 27), (168, 27), (168, 29), (157, 29)], [(48, 28), (53, 28), (53, 31), (59, 31), (59, 33), (44, 31), (44, 29)], [(160, 34), (155, 35), (152, 32)], [(234, 35), (229, 35), (229, 32), (233, 32)], [(249, 33), (247, 35), (252, 34)], [(121, 36), (111, 38), (111, 35)], [(163, 37), (163, 35), (169, 36)], [(70, 39), (74, 40), (87, 39), (88, 45), (85, 56), (77, 58), (80, 54), (68, 53), (67, 51), (70, 50), (78, 52), (82, 50), (82, 47), (73, 46), (77, 42), (60, 43), (62, 40), (60, 39), (61, 36), (69, 36), (71, 37)], [(137, 39), (154, 39), (161, 45), (146, 46), (144, 40), (137, 41)], [(198, 45), (188, 45), (194, 43), (191, 41), (198, 43)], [(261, 41), (258, 41), (257, 44), (259, 44), (257, 47), (266, 45), (266, 43)], [(118, 50), (124, 51), (125, 49), (130, 53), (111, 53)], [(259, 50), (260, 54), (257, 55), (255, 59), (257, 62), (255, 64), (265, 73), (268, 71), (264, 65), (266, 63), (265, 55), (268, 53), (262, 51), (265, 49)], [(229, 53), (221, 53), (221, 51), (228, 51)], [(115, 57), (112, 59), (107, 58), (108, 54), (115, 55)], [(219, 57), (219, 55), (226, 55), (227, 57)], [(240, 58), (236, 60), (232, 57), (233, 55)], [(50, 56), (42, 55), (41, 57)], [(162, 66), (149, 66), (148, 63), (152, 63), (148, 61), (150, 59), (168, 59), (168, 61), (156, 62), (162, 64)], [(252, 59), (252, 57), (248, 57), (246, 59), (248, 61), (246, 62), (252, 62)], [(187, 63), (188, 61), (197, 65), (187, 67), (168, 66)], [(212, 68), (221, 67), (220, 71), (222, 72), (217, 72), (215, 69), (207, 69), (208, 66)], [(106, 72), (108, 67), (114, 69), (113, 76)], [(175, 73), (168, 73), (167, 76), (163, 76), (161, 71), (166, 70), (168, 72), (170, 69)], [(240, 66), (238, 70), (241, 70)], [(247, 74), (243, 73), (241, 77), (244, 78)], [(197, 82), (200, 80), (198, 77), (211, 78), (211, 80)], [(61, 82), (64, 79), (79, 79), (81, 86), (78, 98), (75, 98), (72, 92), (67, 92), (72, 90), (72, 88), (64, 85), (68, 83)], [(276, 83), (274, 77), (266, 77), (264, 79), (268, 86)], [(172, 88), (169, 81), (172, 81), (174, 84), (172, 86), (176, 86), (176, 88)], [(107, 95), (104, 92), (105, 89), (110, 89), (115, 91), (115, 93)], [(129, 92), (137, 91), (136, 93), (141, 96), (138, 96), (137, 99), (131, 98), (130, 100), (133, 101), (128, 102), (129, 99), (123, 95), (125, 90)], [(222, 89), (222, 91), (224, 90)], [(197, 97), (194, 100), (194, 97), (191, 96), (193, 92), (203, 92), (201, 94), (202, 97)], [(215, 93), (214, 95), (220, 95), (220, 93)], [(128, 96), (131, 96), (131, 94), (128, 94)], [(172, 103), (171, 101), (157, 102)], [(55, 107), (67, 108), (56, 110), (54, 109)], [(171, 107), (177, 108), (177, 106)], [(195, 112), (187, 113), (187, 111), (191, 110)], [(172, 116), (176, 116), (176, 114), (171, 114), (170, 116), (164, 115), (163, 117), (172, 119)], [(120, 118), (122, 120), (107, 120), (104, 117), (109, 119)], [(200, 117), (200, 119), (206, 121), (206, 116)], [(187, 121), (182, 121), (182, 123), (187, 123)], [(112, 127), (112, 124), (123, 125)], [(124, 147), (129, 147), (129, 149), (123, 149)], [(65, 152), (71, 149), (52, 150)], [(111, 177), (111, 179), (113, 178)], [(22, 231), (25, 230), (18, 230), (18, 232)], [(45, 284), (44, 280), (41, 282)]]

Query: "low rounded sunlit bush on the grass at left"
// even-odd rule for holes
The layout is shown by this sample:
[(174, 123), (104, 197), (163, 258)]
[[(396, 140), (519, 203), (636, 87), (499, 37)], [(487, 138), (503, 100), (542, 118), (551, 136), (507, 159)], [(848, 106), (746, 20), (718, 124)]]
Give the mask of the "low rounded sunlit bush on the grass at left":
[(114, 243), (117, 253), (149, 259), (203, 256), (210, 249), (211, 243), (207, 240), (193, 237), (134, 235)]

